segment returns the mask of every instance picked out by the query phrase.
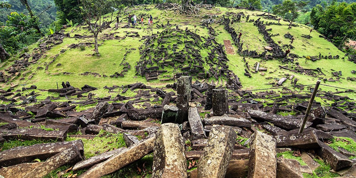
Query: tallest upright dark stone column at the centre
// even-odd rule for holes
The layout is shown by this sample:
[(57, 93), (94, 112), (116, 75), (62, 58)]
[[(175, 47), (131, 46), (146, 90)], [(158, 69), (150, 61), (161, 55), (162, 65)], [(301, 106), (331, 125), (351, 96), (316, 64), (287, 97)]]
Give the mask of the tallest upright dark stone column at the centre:
[(177, 79), (177, 108), (179, 108), (179, 111), (176, 123), (178, 124), (182, 124), (184, 121), (188, 121), (188, 109), (191, 90), (192, 77), (182, 76)]

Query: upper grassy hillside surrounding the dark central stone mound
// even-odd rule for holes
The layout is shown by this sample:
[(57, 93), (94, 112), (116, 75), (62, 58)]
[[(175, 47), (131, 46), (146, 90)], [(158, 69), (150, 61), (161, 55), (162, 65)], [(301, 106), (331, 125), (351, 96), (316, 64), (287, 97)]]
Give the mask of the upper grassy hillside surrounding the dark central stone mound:
[[(145, 10), (146, 9), (146, 10)], [(258, 11), (248, 11), (248, 10), (235, 10), (223, 7), (215, 7), (213, 10), (201, 9), (200, 15), (195, 16), (182, 16), (174, 14), (173, 11), (168, 10), (158, 10), (153, 6), (137, 6), (134, 9), (126, 9), (125, 13), (137, 14), (138, 16), (144, 15), (145, 17), (149, 14), (152, 14), (154, 17), (154, 28), (147, 28), (147, 25), (141, 27), (141, 25), (137, 26), (137, 28), (121, 28), (126, 24), (126, 19), (124, 15), (121, 15), (122, 22), (119, 23), (119, 27), (117, 30), (113, 30), (108, 28), (100, 34), (100, 46), (99, 52), (101, 54), (100, 57), (91, 56), (93, 53), (91, 50), (93, 49), (93, 45), (87, 45), (84, 51), (80, 51), (78, 48), (68, 48), (71, 44), (79, 44), (79, 43), (91, 43), (93, 42), (93, 38), (90, 37), (90, 33), (85, 30), (84, 26), (78, 27), (70, 27), (65, 29), (63, 33), (70, 33), (71, 38), (63, 38), (63, 43), (59, 45), (50, 45), (50, 50), (46, 50), (45, 53), (35, 62), (35, 64), (31, 64), (26, 68), (27, 74), (16, 77), (10, 82), (16, 84), (35, 84), (38, 88), (41, 89), (49, 89), (49, 88), (57, 88), (56, 82), (70, 82), (73, 86), (79, 86), (80, 83), (91, 84), (95, 87), (102, 87), (103, 85), (109, 85), (114, 83), (128, 84), (133, 81), (138, 82), (147, 82), (144, 77), (135, 75), (136, 70), (135, 66), (137, 66), (137, 61), (140, 61), (141, 48), (144, 47), (144, 42), (146, 40), (142, 40), (143, 36), (150, 35), (151, 33), (157, 34), (161, 33), (166, 29), (175, 28), (176, 25), (179, 26), (180, 29), (185, 30), (188, 28), (190, 31), (195, 31), (197, 35), (200, 37), (208, 38), (209, 31), (205, 25), (201, 25), (200, 20), (208, 19), (209, 16), (218, 16), (212, 17), (219, 21), (223, 16), (233, 18), (234, 14), (242, 14), (241, 22), (234, 23), (231, 25), (232, 28), (235, 28), (236, 32), (241, 32), (241, 43), (242, 51), (248, 49), (250, 51), (256, 51), (258, 54), (264, 51), (264, 46), (267, 46), (266, 40), (263, 38), (263, 35), (258, 32), (257, 26), (254, 25), (253, 22), (245, 22), (246, 17), (250, 15), (249, 20), (257, 20), (261, 18), (261, 21), (265, 21), (265, 23), (278, 23), (277, 20), (267, 19), (267, 16), (257, 16), (262, 14), (262, 12)], [(230, 15), (228, 15), (230, 14)], [(172, 18), (174, 17), (174, 18)], [(145, 22), (147, 20), (145, 19)], [(169, 27), (160, 27), (157, 28), (156, 25), (166, 25), (167, 21), (171, 24)], [(348, 78), (355, 77), (354, 74), (351, 73), (351, 70), (355, 69), (355, 64), (347, 61), (347, 57), (345, 54), (339, 51), (335, 46), (333, 46), (330, 42), (324, 40), (324, 38), (319, 37), (319, 33), (313, 31), (310, 36), (311, 38), (304, 38), (302, 35), (309, 34), (309, 27), (297, 24), (297, 27), (293, 27), (288, 30), (287, 26), (288, 22), (283, 20), (280, 21), (282, 25), (268, 25), (266, 28), (272, 28), (272, 30), (268, 31), (270, 34), (279, 34), (277, 36), (272, 36), (274, 43), (277, 41), (281, 41), (280, 46), (282, 47), (282, 51), (286, 51), (290, 49), (290, 47), (284, 47), (285, 45), (290, 44), (290, 39), (284, 37), (284, 35), (289, 31), (290, 35), (294, 36), (295, 40), (292, 43), (293, 48), (290, 49), (291, 54), (296, 54), (299, 57), (293, 58), (294, 63), (298, 62), (299, 67), (304, 69), (317, 69), (320, 68), (320, 72), (316, 72), (315, 75), (307, 75), (305, 72), (292, 72), (290, 70), (286, 70), (285, 68), (280, 68), (278, 66), (287, 66), (292, 69), (295, 67), (295, 64), (291, 62), (282, 63), (280, 60), (261, 60), (260, 57), (253, 58), (250, 56), (243, 57), (237, 54), (238, 46), (234, 45), (234, 40), (232, 39), (229, 32), (224, 29), (224, 25), (221, 23), (212, 23), (209, 24), (215, 31), (215, 41), (224, 44), (224, 40), (229, 40), (232, 43), (232, 52), (231, 54), (226, 53), (226, 58), (229, 60), (229, 69), (232, 70), (239, 78), (240, 82), (244, 89), (261, 89), (261, 88), (269, 88), (271, 85), (267, 85), (269, 83), (274, 83), (275, 78), (285, 77), (286, 74), (294, 75), (295, 78), (299, 79), (298, 83), (301, 84), (314, 84), (317, 78), (320, 79), (330, 79), (332, 82), (325, 81), (325, 84), (330, 84), (336, 87), (345, 87), (350, 89), (355, 89), (354, 82), (349, 80)], [(196, 25), (196, 27), (194, 27)], [(114, 26), (114, 23), (111, 24)], [(131, 32), (137, 32), (139, 37), (130, 37)], [(76, 37), (75, 35), (87, 35), (85, 37)], [(126, 35), (128, 35), (126, 37)], [(159, 34), (158, 34), (159, 36)], [(120, 39), (112, 39), (119, 37)], [(123, 37), (126, 37), (122, 39)], [(32, 45), (30, 47), (30, 53), (36, 53), (39, 51), (38, 44)], [(230, 47), (230, 48), (231, 48)], [(36, 51), (32, 51), (33, 49), (37, 49)], [(225, 49), (226, 47), (223, 47)], [(205, 58), (209, 52), (209, 48), (204, 49), (205, 52), (201, 52), (202, 58)], [(62, 51), (62, 52), (61, 52)], [(266, 54), (268, 55), (269, 52)], [(319, 58), (319, 54), (321, 56), (339, 56), (338, 59), (325, 59)], [(58, 56), (57, 56), (58, 55)], [(30, 54), (30, 56), (32, 56)], [(53, 60), (53, 57), (57, 56), (55, 60), (48, 65), (48, 69), (46, 70), (46, 66), (49, 62)], [(289, 55), (290, 56), (290, 55)], [(308, 61), (305, 63), (305, 57), (310, 56), (311, 58), (317, 58), (315, 62)], [(244, 59), (245, 58), (245, 59)], [(17, 58), (19, 59), (19, 58)], [(13, 60), (17, 60), (16, 57)], [(20, 58), (21, 59), (21, 58)], [(215, 58), (216, 59), (216, 58)], [(260, 67), (267, 68), (267, 71), (262, 71), (258, 73), (251, 73), (251, 78), (244, 76), (245, 73), (245, 60), (250, 67), (256, 62), (260, 63)], [(131, 68), (125, 72), (125, 77), (111, 78), (110, 75), (115, 74), (115, 72), (121, 73), (125, 66), (120, 65), (122, 62), (127, 62)], [(7, 64), (7, 65), (6, 65)], [(12, 62), (3, 63), (2, 69), (6, 69), (12, 65)], [(79, 67), (80, 66), (80, 67)], [(41, 68), (42, 67), (42, 68)], [(180, 70), (179, 67), (177, 70)], [(176, 70), (176, 72), (177, 72)], [(31, 79), (28, 79), (28, 76), (31, 73), (35, 73)], [(342, 76), (335, 77), (332, 72), (342, 72)], [(25, 71), (22, 71), (23, 73)], [(83, 75), (85, 72), (97, 73), (94, 77), (94, 74)], [(261, 75), (263, 73), (264, 75)], [(150, 80), (149, 84), (155, 85), (164, 85), (165, 82), (161, 81), (161, 79), (167, 79), (167, 77), (163, 77), (164, 75), (170, 75), (173, 77), (173, 70), (169, 69), (166, 73), (159, 75), (157, 80)], [(100, 77), (99, 77), (100, 75)], [(103, 76), (106, 77), (103, 77)], [(19, 80), (20, 78), (24, 78), (25, 80)], [(214, 78), (211, 78), (214, 79)], [(336, 80), (336, 81), (334, 81)], [(340, 81), (337, 81), (340, 80)], [(258, 81), (258, 82), (257, 82)], [(100, 83), (98, 83), (100, 82)], [(210, 82), (210, 80), (209, 80)], [(215, 79), (216, 82), (216, 79)], [(219, 81), (221, 83), (221, 80)], [(289, 81), (287, 80), (284, 83), (285, 86), (289, 86)], [(221, 83), (223, 84), (223, 83)], [(3, 87), (6, 87), (6, 83), (3, 84)], [(332, 88), (326, 88), (326, 90), (332, 90)]]

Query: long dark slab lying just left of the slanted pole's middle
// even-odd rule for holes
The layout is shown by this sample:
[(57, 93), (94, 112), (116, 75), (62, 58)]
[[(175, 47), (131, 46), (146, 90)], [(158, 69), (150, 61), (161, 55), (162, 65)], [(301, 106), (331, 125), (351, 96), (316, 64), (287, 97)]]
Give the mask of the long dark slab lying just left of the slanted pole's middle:
[[(272, 124), (278, 127), (282, 127), (284, 129), (289, 129), (289, 130), (298, 129), (302, 125), (302, 119), (293, 119), (293, 118), (289, 119), (288, 117), (284, 117), (277, 114), (268, 114), (263, 111), (249, 110), (248, 114), (250, 114), (250, 116), (253, 119), (272, 122)], [(307, 121), (305, 123), (304, 128), (307, 128), (310, 125), (312, 125), (312, 122)]]

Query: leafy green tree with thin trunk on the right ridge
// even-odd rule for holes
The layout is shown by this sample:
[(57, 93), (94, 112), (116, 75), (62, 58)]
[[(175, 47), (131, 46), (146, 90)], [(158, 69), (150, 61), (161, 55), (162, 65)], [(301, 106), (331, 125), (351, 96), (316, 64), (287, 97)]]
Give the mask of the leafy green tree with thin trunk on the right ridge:
[(310, 1), (294, 1), (294, 0), (284, 0), (282, 4), (277, 4), (272, 7), (274, 14), (287, 17), (290, 20), (289, 28), (293, 21), (298, 17), (299, 12), (304, 9), (305, 6), (309, 4)]

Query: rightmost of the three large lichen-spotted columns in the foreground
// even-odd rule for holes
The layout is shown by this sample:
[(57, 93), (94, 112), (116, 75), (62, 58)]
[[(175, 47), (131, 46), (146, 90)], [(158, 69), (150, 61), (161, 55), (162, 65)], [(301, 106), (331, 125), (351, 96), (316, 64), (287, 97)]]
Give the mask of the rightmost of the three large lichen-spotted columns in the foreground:
[(275, 178), (277, 175), (276, 140), (257, 130), (250, 139), (252, 142), (247, 178)]

